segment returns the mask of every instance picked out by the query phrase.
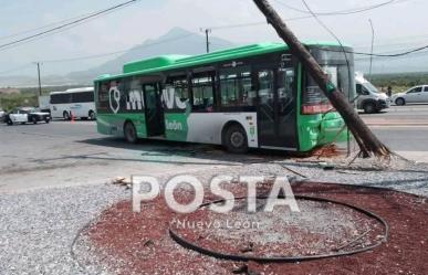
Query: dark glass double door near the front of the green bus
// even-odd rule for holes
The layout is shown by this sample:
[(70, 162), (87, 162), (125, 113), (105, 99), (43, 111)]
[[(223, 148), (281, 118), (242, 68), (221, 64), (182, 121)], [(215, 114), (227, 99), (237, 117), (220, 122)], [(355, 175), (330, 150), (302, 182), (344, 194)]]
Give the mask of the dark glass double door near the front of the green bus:
[(294, 68), (258, 72), (259, 147), (297, 150)]

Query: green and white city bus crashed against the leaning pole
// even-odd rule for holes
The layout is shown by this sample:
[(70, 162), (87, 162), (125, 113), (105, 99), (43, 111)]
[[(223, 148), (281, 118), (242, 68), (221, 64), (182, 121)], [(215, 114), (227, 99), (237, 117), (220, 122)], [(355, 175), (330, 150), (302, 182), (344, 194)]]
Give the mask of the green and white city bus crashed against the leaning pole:
[[(355, 94), (354, 59), (336, 43), (305, 43), (331, 81)], [(351, 70), (351, 71), (349, 71)], [(127, 63), (95, 80), (97, 129), (138, 138), (310, 151), (346, 139), (342, 117), (282, 43)]]

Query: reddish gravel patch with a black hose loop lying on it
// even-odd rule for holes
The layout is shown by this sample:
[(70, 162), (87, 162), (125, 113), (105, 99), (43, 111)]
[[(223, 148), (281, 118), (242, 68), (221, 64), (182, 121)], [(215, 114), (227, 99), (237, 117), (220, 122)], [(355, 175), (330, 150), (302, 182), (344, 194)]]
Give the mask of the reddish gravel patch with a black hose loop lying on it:
[[(237, 195), (243, 194), (246, 191), (240, 184), (234, 186), (232, 189), (232, 192)], [(216, 260), (186, 250), (171, 240), (168, 233), (169, 224), (173, 219), (179, 216), (171, 212), (160, 198), (143, 204), (142, 213), (133, 213), (131, 202), (122, 201), (105, 210), (83, 234), (91, 240), (91, 245), (103, 265), (108, 265), (113, 272), (118, 274), (428, 274), (428, 201), (426, 198), (382, 189), (309, 182), (294, 183), (293, 191), (295, 194), (316, 195), (346, 202), (374, 212), (385, 219), (389, 225), (387, 242), (372, 251), (352, 256), (295, 263), (262, 264)], [(186, 198), (191, 198), (191, 192), (181, 193), (181, 199), (186, 200)], [(207, 201), (212, 199), (213, 197), (206, 198)], [(303, 208), (306, 208), (307, 211), (316, 208), (324, 208), (324, 210), (331, 208), (333, 212), (338, 211), (332, 215), (333, 225), (316, 225), (317, 236), (328, 236), (322, 230), (336, 231), (340, 229), (341, 222), (344, 224), (342, 230), (345, 232), (338, 235), (330, 234), (330, 241), (333, 242), (332, 246), (321, 245), (322, 243), (325, 244), (328, 237), (325, 237), (321, 244), (315, 242), (319, 246), (314, 246), (314, 243), (312, 243), (310, 246), (317, 248), (315, 252), (305, 248), (290, 250), (286, 239), (281, 237), (275, 240), (274, 237), (252, 236), (252, 240), (249, 241), (248, 237), (251, 234), (246, 235), (246, 232), (243, 232), (243, 235), (222, 232), (217, 236), (212, 235), (213, 232), (198, 230), (182, 231), (181, 233), (184, 236), (199, 242), (199, 244), (208, 245), (210, 248), (226, 250), (226, 252), (268, 255), (269, 250), (253, 250), (252, 246), (255, 243), (255, 246), (268, 244), (263, 247), (272, 247), (269, 244), (273, 242), (276, 244), (274, 245), (275, 254), (294, 256), (296, 254), (327, 253), (332, 251), (333, 246), (343, 243), (343, 240), (361, 235), (362, 232), (366, 231), (367, 228), (365, 226), (374, 226), (374, 231), (359, 245), (373, 243), (376, 241), (376, 234), (377, 236), (382, 234), (379, 233), (382, 232), (380, 228), (372, 224), (374, 221), (369, 221), (367, 218), (364, 218), (366, 219), (364, 220), (362, 216), (352, 213), (352, 211), (349, 212), (349, 210), (343, 210), (335, 205), (310, 204)], [(342, 214), (345, 214), (343, 221), (334, 224), (334, 216)], [(348, 216), (346, 218), (346, 215)], [(303, 220), (309, 221), (307, 219)], [(316, 219), (312, 219), (312, 223), (309, 222), (306, 226), (310, 229), (315, 226), (316, 223)], [(279, 221), (274, 221), (274, 224), (273, 228), (279, 230), (279, 233), (284, 235), (292, 233), (290, 230), (288, 231), (290, 226), (282, 229)], [(356, 232), (351, 235), (346, 233), (352, 232), (352, 229)], [(265, 235), (274, 235), (271, 233)], [(291, 234), (291, 236), (296, 235)], [(240, 236), (242, 237), (240, 239)], [(211, 242), (205, 242), (210, 237)], [(309, 242), (311, 240), (302, 239), (302, 244)], [(249, 244), (248, 250), (243, 247), (246, 243)], [(294, 246), (299, 244), (295, 240), (290, 243)], [(225, 246), (225, 244), (228, 245)], [(284, 250), (281, 251), (281, 247), (284, 247)]]

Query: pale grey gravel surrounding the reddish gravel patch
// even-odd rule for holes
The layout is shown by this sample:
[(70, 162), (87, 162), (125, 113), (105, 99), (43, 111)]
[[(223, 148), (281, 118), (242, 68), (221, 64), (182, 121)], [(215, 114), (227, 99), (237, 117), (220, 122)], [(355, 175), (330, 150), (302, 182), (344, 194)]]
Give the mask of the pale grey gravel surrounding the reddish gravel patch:
[[(378, 171), (372, 168), (373, 163), (365, 166), (355, 163), (352, 169), (344, 169), (340, 163), (336, 169), (324, 171), (319, 163), (286, 160), (212, 168), (196, 176), (202, 182), (216, 174), (295, 176), (288, 170), (292, 169), (312, 180), (379, 186), (428, 197), (426, 166), (399, 162), (395, 167), (401, 171)], [(111, 184), (1, 194), (0, 274), (107, 274), (102, 267), (82, 268), (71, 256), (71, 246), (85, 224), (124, 198), (129, 198), (129, 191)]]

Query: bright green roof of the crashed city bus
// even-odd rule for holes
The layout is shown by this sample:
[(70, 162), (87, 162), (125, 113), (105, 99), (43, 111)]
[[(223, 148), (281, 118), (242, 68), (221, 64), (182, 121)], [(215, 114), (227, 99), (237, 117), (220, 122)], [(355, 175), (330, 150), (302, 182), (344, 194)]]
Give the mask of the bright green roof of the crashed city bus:
[[(311, 41), (303, 42), (304, 45), (311, 46), (341, 46), (337, 42), (321, 42)], [(345, 45), (348, 47), (348, 45)], [(197, 65), (207, 65), (210, 63), (228, 61), (233, 59), (242, 59), (253, 55), (274, 53), (288, 50), (284, 43), (258, 43), (244, 45), (233, 49), (220, 50), (200, 55), (160, 55), (140, 61), (126, 63), (123, 67), (123, 73), (117, 75), (104, 74), (98, 76), (95, 82), (114, 80), (123, 76), (133, 76), (137, 74), (157, 73), (167, 70), (184, 68)]]

